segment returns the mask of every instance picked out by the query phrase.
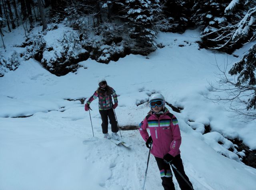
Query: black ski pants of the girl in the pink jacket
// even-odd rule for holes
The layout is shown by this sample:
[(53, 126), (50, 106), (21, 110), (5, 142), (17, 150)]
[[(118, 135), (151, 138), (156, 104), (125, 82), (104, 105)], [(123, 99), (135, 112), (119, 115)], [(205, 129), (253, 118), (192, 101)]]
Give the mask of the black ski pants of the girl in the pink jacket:
[[(162, 179), (162, 186), (164, 190), (175, 190), (174, 184), (172, 182), (172, 172), (170, 169), (170, 164), (164, 162), (162, 158), (156, 158), (156, 163), (160, 170), (161, 179)], [(180, 158), (180, 154), (174, 157), (172, 163), (178, 171), (182, 174), (182, 176), (188, 181), (188, 183), (192, 186), (192, 183), (189, 181), (188, 176), (185, 174), (184, 167), (182, 164), (182, 160)], [(176, 180), (180, 186), (181, 190), (191, 190), (190, 186), (184, 181), (184, 179), (180, 176), (180, 174), (172, 167), (172, 171), (175, 175)]]

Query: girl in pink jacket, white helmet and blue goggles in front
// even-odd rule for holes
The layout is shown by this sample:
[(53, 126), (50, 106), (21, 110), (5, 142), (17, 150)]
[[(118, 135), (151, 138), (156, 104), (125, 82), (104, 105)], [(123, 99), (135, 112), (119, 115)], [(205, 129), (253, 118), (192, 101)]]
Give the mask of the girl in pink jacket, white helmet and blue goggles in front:
[[(182, 160), (180, 158), (180, 128), (177, 118), (165, 108), (165, 100), (162, 94), (152, 94), (149, 99), (150, 112), (140, 123), (140, 134), (146, 141), (146, 146), (152, 145), (151, 154), (155, 156), (156, 163), (160, 170), (162, 186), (164, 190), (175, 190), (172, 182), (172, 171), (178, 181), (181, 190), (190, 190), (191, 182), (184, 172)], [(147, 132), (150, 130), (151, 136)], [(173, 164), (182, 176), (187, 180), (191, 187), (184, 179), (174, 170), (170, 169)]]

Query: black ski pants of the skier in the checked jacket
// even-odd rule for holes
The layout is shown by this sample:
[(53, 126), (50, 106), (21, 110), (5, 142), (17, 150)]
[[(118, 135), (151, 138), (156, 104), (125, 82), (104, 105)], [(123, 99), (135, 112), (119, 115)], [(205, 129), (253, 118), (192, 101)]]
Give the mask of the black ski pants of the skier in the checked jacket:
[(117, 122), (114, 114), (113, 108), (109, 110), (99, 110), (100, 111), (100, 116), (102, 119), (102, 133), (108, 133), (108, 118), (111, 124), (111, 130), (112, 132), (118, 132), (118, 127), (117, 127)]

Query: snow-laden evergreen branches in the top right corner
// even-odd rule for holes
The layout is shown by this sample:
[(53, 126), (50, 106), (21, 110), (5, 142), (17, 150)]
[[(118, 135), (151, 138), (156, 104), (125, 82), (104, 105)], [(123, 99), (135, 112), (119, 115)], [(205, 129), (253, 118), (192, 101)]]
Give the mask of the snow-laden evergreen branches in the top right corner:
[(205, 33), (202, 39), (204, 42), (211, 42), (206, 44), (209, 48), (232, 53), (242, 45), (255, 40), (255, 16), (255, 0), (232, 0), (224, 10), (224, 25)]

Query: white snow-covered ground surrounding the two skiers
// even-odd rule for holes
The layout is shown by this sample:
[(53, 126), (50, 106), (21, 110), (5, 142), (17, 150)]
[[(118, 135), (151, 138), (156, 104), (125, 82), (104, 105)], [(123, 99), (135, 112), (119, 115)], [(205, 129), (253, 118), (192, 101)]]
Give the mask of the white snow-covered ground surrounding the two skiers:
[[(24, 48), (13, 47), (23, 38), (22, 31), (15, 31), (4, 36), (7, 50), (22, 52)], [(48, 36), (48, 41), (58, 36)], [(20, 59), (17, 70), (0, 78), (0, 190), (142, 189), (148, 148), (139, 132), (121, 131), (132, 144), (130, 149), (104, 140), (98, 100), (94, 100), (92, 137), (89, 113), (78, 100), (89, 98), (102, 77), (118, 94), (115, 111), (120, 126), (138, 125), (154, 92), (183, 108), (176, 113), (167, 106), (179, 120), (181, 157), (195, 190), (254, 190), (256, 169), (240, 162), (237, 154), (243, 152), (228, 151), (234, 145), (226, 138), (239, 138), (256, 149), (255, 122), (230, 117), (227, 105), (214, 104), (202, 95), (207, 93), (207, 81), (216, 80), (216, 60), (222, 65), (227, 60), (234, 63), (252, 44), (234, 52), (236, 58), (199, 49), (198, 36), (196, 30), (160, 33), (157, 41), (165, 47), (148, 56), (129, 55), (110, 64), (89, 59), (80, 63), (83, 67), (77, 72), (60, 77), (33, 59)], [(30, 117), (13, 118), (17, 116)], [(203, 135), (204, 125), (210, 125), (212, 132)], [(179, 189), (175, 177), (174, 183)], [(163, 189), (153, 156), (145, 189)]]

